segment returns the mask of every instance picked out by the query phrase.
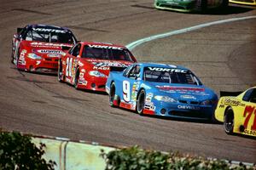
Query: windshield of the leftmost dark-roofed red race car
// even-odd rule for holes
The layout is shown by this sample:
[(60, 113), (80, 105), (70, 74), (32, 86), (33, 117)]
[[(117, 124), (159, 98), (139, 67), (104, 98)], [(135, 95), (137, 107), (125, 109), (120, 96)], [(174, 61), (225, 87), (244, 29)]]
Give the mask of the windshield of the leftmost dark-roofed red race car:
[(75, 38), (70, 31), (33, 28), (26, 34), (27, 41), (37, 42), (59, 42), (59, 43), (75, 43)]

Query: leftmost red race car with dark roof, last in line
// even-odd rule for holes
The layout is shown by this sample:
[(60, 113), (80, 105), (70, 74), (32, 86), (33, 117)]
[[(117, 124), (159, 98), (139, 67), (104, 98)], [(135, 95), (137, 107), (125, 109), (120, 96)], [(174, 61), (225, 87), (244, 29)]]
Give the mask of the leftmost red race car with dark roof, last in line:
[(19, 70), (57, 73), (63, 50), (77, 42), (72, 31), (59, 26), (27, 25), (12, 41), (12, 62)]

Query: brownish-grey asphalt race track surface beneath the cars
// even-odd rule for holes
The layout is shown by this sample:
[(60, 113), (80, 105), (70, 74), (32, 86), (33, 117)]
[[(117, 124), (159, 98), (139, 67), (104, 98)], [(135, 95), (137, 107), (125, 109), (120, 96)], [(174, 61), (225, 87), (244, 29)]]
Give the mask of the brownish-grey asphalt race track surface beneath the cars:
[[(216, 20), (252, 16), (253, 8), (182, 14), (154, 9), (153, 0), (0, 0), (0, 127), (69, 139), (256, 162), (256, 140), (224, 133), (221, 124), (138, 116), (108, 106), (108, 96), (75, 90), (49, 75), (20, 72), (10, 62), (16, 28), (67, 26), (83, 41), (126, 45), (143, 37)], [(139, 61), (189, 67), (216, 92), (256, 85), (256, 19), (241, 20), (143, 43)]]

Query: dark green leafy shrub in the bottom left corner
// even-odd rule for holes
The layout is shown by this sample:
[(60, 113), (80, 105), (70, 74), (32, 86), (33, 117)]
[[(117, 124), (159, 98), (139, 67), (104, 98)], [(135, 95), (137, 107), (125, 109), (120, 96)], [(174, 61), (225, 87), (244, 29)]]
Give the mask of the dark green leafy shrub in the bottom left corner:
[(0, 169), (54, 169), (54, 161), (45, 161), (45, 144), (37, 147), (30, 136), (20, 133), (4, 133), (0, 130)]

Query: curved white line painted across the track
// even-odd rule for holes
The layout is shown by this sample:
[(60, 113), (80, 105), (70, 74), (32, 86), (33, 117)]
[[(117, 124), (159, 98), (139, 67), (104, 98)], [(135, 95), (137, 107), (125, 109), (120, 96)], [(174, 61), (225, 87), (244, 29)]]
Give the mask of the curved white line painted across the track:
[(153, 41), (153, 40), (156, 40), (156, 39), (160, 39), (160, 38), (164, 38), (164, 37), (171, 37), (173, 35), (182, 34), (184, 32), (195, 31), (195, 30), (207, 27), (207, 26), (214, 26), (214, 25), (224, 24), (224, 23), (227, 23), (227, 22), (233, 22), (233, 21), (237, 21), (237, 20), (248, 20), (248, 19), (254, 19), (254, 18), (256, 18), (255, 15), (246, 16), (246, 17), (242, 17), (242, 18), (233, 18), (233, 19), (228, 19), (228, 20), (217, 20), (217, 21), (206, 23), (206, 24), (201, 24), (201, 25), (198, 25), (198, 26), (191, 26), (191, 27), (188, 27), (188, 28), (180, 29), (180, 30), (169, 31), (169, 32), (166, 32), (166, 33), (157, 34), (157, 35), (150, 36), (150, 37), (144, 37), (144, 38), (139, 39), (135, 42), (131, 42), (131, 43), (126, 45), (126, 48), (129, 48), (130, 50), (132, 50), (132, 49), (136, 48), (137, 46), (139, 46), (139, 45), (141, 45), (145, 42), (150, 42), (150, 41)]

